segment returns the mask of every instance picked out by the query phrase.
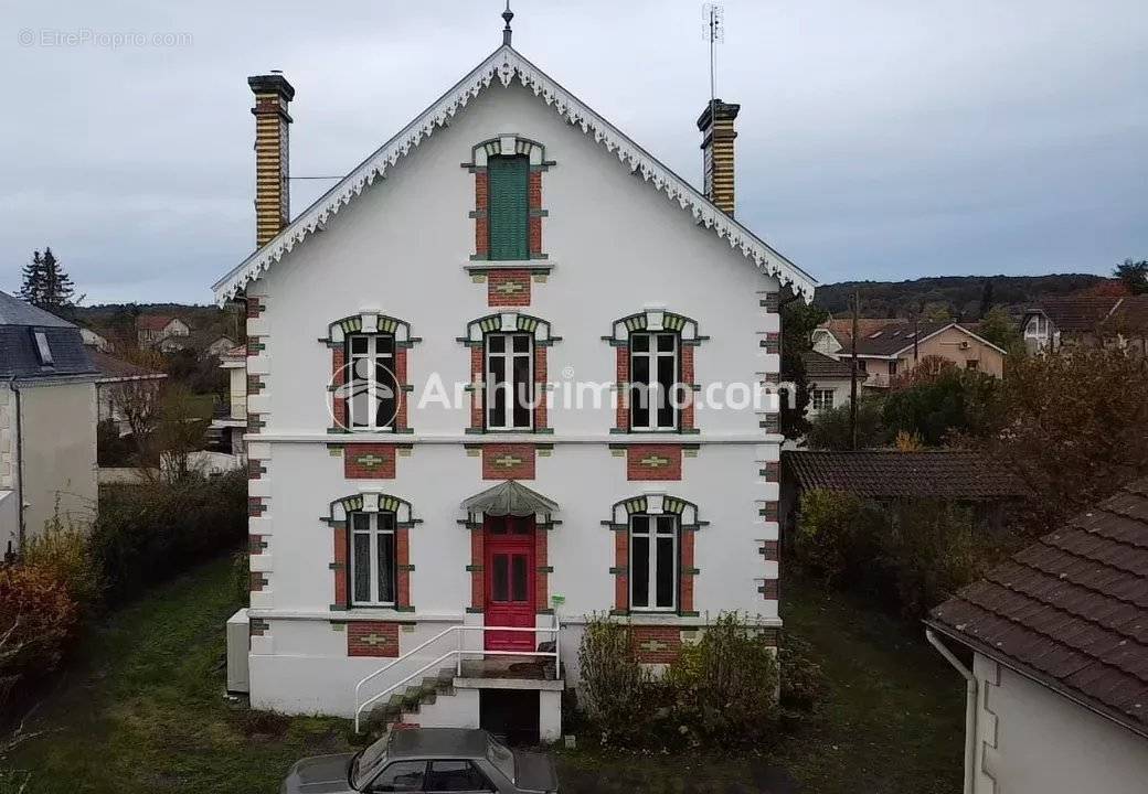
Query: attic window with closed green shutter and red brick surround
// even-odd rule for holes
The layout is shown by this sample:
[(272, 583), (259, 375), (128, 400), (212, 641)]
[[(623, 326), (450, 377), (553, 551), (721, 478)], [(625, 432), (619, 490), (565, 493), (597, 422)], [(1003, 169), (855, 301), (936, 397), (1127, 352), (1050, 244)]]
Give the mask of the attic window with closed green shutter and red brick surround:
[[(514, 195), (498, 195), (498, 174), (490, 173), (491, 158), (497, 158), (495, 164), (510, 159), (519, 161), (525, 171), (525, 182), (517, 182)], [(548, 171), (553, 161), (546, 159), (545, 147), (538, 141), (529, 140), (515, 134), (504, 134), (476, 143), (471, 150), (471, 162), (463, 163), (463, 168), (474, 174), (474, 209), (470, 216), (474, 219), (474, 254), (471, 259), (474, 262), (510, 262), (510, 260), (537, 260), (545, 259), (546, 255), (542, 249), (542, 219), (546, 217), (546, 210), (542, 207), (542, 174)], [(522, 173), (522, 171), (519, 171)], [(518, 177), (515, 177), (515, 180)], [(525, 208), (518, 202), (525, 201)], [(525, 235), (520, 238), (518, 246), (513, 247), (513, 256), (507, 256), (505, 246), (491, 244), (491, 227), (504, 220), (503, 216), (506, 207), (513, 204), (515, 212), (519, 208), (525, 210), (525, 218), (519, 217), (513, 223), (525, 223)], [(522, 244), (525, 243), (525, 244)], [(521, 299), (521, 298), (519, 298)], [(528, 294), (526, 303), (505, 303), (501, 305), (528, 305)], [(495, 304), (491, 304), (495, 305)]]

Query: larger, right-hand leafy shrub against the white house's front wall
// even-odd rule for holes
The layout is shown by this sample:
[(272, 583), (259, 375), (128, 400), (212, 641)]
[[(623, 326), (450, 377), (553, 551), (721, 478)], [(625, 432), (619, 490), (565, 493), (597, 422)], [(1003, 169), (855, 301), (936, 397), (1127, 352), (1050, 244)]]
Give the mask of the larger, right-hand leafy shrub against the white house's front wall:
[(774, 733), (777, 661), (760, 630), (724, 613), (687, 646), (666, 676), (676, 699), (675, 722), (696, 744), (730, 747)]

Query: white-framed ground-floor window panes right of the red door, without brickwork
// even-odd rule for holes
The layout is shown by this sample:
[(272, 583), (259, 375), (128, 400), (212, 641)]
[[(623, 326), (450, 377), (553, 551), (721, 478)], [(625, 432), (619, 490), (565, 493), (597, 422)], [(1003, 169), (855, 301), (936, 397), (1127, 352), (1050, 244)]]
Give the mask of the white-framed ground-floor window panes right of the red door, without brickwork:
[(678, 517), (630, 515), (630, 609), (677, 609)]

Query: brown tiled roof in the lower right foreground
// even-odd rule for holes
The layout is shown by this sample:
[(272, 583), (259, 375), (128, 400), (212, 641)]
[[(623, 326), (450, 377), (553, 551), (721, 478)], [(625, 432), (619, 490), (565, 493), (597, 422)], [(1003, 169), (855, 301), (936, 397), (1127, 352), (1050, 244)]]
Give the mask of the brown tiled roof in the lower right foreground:
[(928, 623), (1148, 735), (1148, 478), (1015, 554)]

